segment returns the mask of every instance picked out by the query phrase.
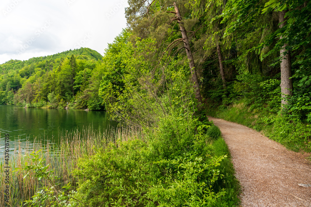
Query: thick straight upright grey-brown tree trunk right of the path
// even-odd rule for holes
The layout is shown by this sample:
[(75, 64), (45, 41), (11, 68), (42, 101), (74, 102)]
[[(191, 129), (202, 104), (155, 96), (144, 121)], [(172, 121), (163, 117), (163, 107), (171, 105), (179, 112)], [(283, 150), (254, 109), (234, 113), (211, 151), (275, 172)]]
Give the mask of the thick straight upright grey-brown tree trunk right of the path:
[[(279, 22), (282, 24), (280, 28), (285, 26), (285, 11), (279, 12)], [(283, 37), (281, 36), (280, 39)], [(290, 61), (290, 51), (286, 51), (287, 44), (284, 44), (280, 50), (280, 57), (281, 57), (281, 108), (284, 108), (284, 105), (287, 105), (286, 99), (293, 96), (293, 82), (290, 77), (291, 74), (291, 61)], [(285, 54), (286, 53), (286, 54)]]

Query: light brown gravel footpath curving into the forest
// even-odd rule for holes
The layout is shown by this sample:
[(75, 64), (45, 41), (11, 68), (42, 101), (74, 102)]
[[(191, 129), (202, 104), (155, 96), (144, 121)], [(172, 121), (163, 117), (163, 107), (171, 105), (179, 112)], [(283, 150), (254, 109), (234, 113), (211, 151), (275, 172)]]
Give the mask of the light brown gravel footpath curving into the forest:
[[(241, 205), (311, 206), (311, 163), (240, 124), (208, 117), (220, 128), (242, 186)], [(298, 184), (309, 184), (300, 187)]]

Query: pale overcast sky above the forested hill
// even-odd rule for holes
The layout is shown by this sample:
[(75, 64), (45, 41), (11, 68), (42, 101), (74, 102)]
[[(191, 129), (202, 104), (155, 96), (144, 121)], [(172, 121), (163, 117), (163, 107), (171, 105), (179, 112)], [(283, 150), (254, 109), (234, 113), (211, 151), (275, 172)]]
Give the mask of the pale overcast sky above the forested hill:
[(0, 64), (89, 47), (101, 55), (126, 28), (127, 0), (1, 0)]

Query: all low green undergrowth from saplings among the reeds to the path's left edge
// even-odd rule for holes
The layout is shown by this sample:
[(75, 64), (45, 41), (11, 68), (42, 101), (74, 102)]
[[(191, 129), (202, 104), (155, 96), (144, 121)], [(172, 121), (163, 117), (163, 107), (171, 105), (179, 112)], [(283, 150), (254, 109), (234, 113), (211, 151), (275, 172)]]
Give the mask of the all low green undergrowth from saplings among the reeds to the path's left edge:
[[(69, 140), (67, 145), (74, 146)], [(55, 183), (61, 177), (55, 177), (55, 169), (50, 168), (40, 151), (30, 153), (32, 162), (16, 170), (24, 178), (31, 174), (41, 185), (24, 201), (26, 205), (230, 207), (239, 204), (240, 187), (234, 177), (230, 152), (219, 128), (208, 120), (165, 117), (152, 130), (112, 134), (103, 147), (93, 150), (94, 153), (80, 156), (70, 172), (77, 182), (67, 182), (63, 187)]]

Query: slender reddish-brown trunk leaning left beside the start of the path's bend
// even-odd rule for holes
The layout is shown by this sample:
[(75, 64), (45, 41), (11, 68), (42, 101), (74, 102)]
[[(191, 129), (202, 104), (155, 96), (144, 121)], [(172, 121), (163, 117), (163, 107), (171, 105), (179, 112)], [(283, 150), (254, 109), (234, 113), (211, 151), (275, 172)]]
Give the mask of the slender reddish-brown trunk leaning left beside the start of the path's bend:
[(184, 46), (186, 48), (186, 53), (187, 53), (187, 57), (189, 60), (189, 67), (190, 67), (190, 71), (191, 71), (192, 82), (194, 83), (194, 87), (195, 87), (195, 97), (196, 97), (197, 101), (199, 102), (198, 103), (198, 109), (200, 110), (201, 109), (201, 103), (202, 103), (202, 97), (201, 97), (201, 92), (200, 92), (199, 81), (197, 79), (197, 70), (195, 69), (195, 64), (194, 64), (193, 55), (192, 55), (192, 52), (190, 49), (187, 31), (186, 31), (185, 27), (183, 26), (182, 17), (180, 15), (180, 11), (179, 11), (179, 8), (178, 8), (176, 2), (174, 2), (174, 9), (176, 11), (177, 21), (179, 23), (181, 35), (183, 37)]

